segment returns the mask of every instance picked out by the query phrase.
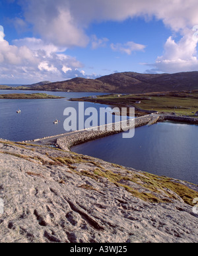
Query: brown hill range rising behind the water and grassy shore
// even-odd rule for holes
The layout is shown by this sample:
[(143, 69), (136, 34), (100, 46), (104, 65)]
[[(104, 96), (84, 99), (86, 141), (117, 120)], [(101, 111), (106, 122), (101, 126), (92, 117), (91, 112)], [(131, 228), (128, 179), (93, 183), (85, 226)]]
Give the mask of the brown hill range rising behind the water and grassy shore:
[(139, 74), (122, 72), (96, 79), (73, 78), (62, 82), (32, 86), (34, 90), (71, 92), (110, 92), (141, 94), (198, 89), (198, 72)]

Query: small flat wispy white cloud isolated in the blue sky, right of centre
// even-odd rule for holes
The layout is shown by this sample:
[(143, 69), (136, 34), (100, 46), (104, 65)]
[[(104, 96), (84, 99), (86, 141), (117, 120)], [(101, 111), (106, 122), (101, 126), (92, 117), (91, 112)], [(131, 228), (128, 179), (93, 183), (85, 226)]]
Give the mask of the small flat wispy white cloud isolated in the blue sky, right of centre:
[(142, 51), (145, 49), (145, 47), (146, 47), (145, 45), (136, 44), (135, 42), (126, 42), (125, 44), (111, 44), (112, 50), (117, 51), (117, 52), (123, 52), (128, 55), (130, 55), (131, 52), (134, 52), (137, 50)]

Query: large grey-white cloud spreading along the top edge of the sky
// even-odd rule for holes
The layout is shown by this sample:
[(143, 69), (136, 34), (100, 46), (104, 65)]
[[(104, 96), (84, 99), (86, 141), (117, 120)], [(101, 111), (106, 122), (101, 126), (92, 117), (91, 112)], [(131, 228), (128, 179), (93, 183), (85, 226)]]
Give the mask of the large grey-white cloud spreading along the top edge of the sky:
[(198, 25), (197, 0), (23, 0), (20, 5), (35, 32), (61, 46), (86, 46), (85, 30), (93, 21), (156, 17), (174, 31)]

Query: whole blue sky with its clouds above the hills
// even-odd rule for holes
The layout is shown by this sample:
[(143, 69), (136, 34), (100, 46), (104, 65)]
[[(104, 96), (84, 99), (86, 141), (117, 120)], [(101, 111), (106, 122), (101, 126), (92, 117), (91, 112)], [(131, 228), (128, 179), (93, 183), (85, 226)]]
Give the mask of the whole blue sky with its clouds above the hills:
[(197, 0), (0, 0), (0, 84), (198, 70)]

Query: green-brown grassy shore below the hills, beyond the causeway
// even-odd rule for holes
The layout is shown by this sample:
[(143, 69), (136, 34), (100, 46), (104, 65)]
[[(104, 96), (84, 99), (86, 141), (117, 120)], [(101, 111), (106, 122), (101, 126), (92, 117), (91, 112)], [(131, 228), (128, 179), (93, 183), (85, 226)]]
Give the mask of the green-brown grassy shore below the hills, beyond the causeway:
[[(155, 110), (168, 113), (175, 112), (180, 115), (189, 116), (195, 116), (195, 112), (198, 111), (198, 90), (191, 92), (129, 94), (120, 97), (117, 97), (117, 95), (107, 95), (98, 96), (96, 99), (86, 97), (81, 100), (104, 103), (107, 105), (117, 105), (119, 107), (133, 105), (143, 110)], [(141, 101), (141, 103), (136, 103), (136, 101)]]

